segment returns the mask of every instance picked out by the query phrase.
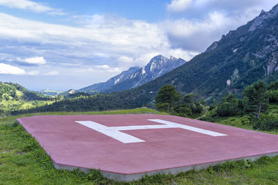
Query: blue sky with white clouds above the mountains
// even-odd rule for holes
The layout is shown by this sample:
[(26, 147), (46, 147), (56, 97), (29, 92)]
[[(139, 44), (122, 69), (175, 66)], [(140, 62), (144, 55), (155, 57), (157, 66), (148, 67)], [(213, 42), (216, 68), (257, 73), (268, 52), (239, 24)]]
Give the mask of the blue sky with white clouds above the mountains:
[(69, 90), (154, 56), (189, 61), (274, 0), (0, 0), (0, 81)]

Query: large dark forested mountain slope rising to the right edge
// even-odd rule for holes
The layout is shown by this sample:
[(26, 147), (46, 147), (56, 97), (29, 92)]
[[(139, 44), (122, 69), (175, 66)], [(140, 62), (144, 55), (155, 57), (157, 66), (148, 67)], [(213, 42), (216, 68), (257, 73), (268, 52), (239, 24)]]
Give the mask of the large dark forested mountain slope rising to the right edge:
[(209, 102), (227, 93), (242, 95), (257, 81), (278, 79), (278, 5), (213, 42), (202, 54), (148, 83), (122, 92), (56, 102), (41, 111), (95, 111), (152, 106), (164, 84), (197, 93)]

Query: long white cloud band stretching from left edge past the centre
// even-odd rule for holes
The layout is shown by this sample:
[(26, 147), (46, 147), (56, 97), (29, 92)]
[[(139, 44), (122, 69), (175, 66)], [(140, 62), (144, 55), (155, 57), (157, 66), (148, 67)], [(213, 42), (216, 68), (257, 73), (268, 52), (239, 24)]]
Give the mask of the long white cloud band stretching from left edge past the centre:
[(0, 13), (0, 17), (0, 35), (22, 42), (99, 48), (105, 45), (129, 52), (137, 47), (157, 47), (165, 41), (157, 24), (142, 21), (130, 20), (126, 24), (108, 22), (97, 28), (86, 28), (35, 22), (4, 13)]

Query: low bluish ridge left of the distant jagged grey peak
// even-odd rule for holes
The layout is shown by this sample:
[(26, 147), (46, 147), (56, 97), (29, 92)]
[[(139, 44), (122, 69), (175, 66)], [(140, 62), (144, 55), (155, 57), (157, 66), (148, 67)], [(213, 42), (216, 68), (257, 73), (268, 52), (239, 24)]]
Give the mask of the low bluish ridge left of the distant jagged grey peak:
[(95, 83), (92, 86), (88, 86), (85, 88), (81, 88), (77, 90), (78, 92), (86, 92), (86, 93), (97, 93), (100, 90), (106, 90), (108, 88), (111, 88), (117, 83), (120, 83), (122, 81), (125, 81), (129, 77), (131, 77), (132, 74), (137, 72), (140, 69), (140, 67), (131, 67), (129, 70), (126, 70), (122, 72), (121, 74), (117, 74), (117, 76), (112, 77), (111, 79), (108, 79), (106, 82), (101, 83)]

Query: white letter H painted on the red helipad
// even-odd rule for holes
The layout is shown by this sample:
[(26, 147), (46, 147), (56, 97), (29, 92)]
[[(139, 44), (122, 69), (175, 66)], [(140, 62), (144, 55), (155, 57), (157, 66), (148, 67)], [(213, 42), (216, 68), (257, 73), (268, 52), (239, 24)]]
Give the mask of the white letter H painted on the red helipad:
[(126, 127), (106, 127), (102, 124), (99, 124), (97, 122), (92, 121), (76, 121), (79, 124), (84, 125), (85, 127), (89, 127), (90, 129), (93, 129), (95, 131), (99, 131), (102, 134), (105, 134), (106, 136), (110, 136), (111, 138), (114, 138), (116, 140), (120, 140), (122, 143), (140, 143), (145, 142), (145, 140), (142, 140), (140, 138), (136, 138), (134, 136), (131, 136), (129, 134), (125, 134), (122, 131), (123, 130), (140, 130), (140, 129), (170, 129), (170, 128), (180, 128), (180, 129), (186, 129), (190, 131), (196, 131), (201, 134), (206, 134), (209, 136), (227, 136), (226, 134), (221, 134), (215, 131), (209, 131), (205, 129), (199, 129), (197, 127), (190, 127), (185, 124), (179, 124), (175, 122), (168, 122), (165, 120), (159, 120), (159, 119), (152, 119), (149, 120), (152, 122), (159, 122), (162, 124), (154, 124), (154, 125), (139, 125), (139, 126), (126, 126)]

